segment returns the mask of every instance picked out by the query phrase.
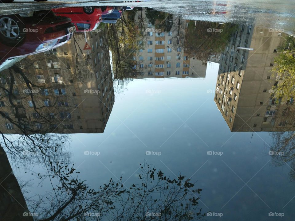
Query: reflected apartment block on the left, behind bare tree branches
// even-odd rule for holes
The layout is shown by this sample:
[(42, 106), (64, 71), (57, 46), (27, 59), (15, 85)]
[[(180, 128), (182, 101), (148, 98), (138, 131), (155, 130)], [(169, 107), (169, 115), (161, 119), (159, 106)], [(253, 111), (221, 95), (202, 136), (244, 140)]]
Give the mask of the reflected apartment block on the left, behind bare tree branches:
[[(59, 48), (39, 53), (22, 60), (23, 73), (38, 86), (39, 93), (27, 94), (23, 79), (15, 79), (13, 94), (22, 108), (17, 116), (8, 100), (7, 91), (1, 91), (1, 110), (12, 119), (25, 119), (28, 127), (41, 131), (44, 125), (40, 115), (50, 114), (53, 133), (103, 133), (114, 104), (114, 90), (109, 50), (103, 32), (73, 33), (73, 37)], [(92, 49), (84, 50), (85, 41)], [(26, 62), (26, 63), (24, 63)], [(30, 65), (26, 65), (29, 64)], [(10, 88), (10, 72), (3, 71), (2, 88)], [(28, 93), (28, 92), (25, 92)], [(39, 114), (33, 107), (33, 95)], [(41, 114), (40, 114), (41, 112)], [(26, 126), (26, 125), (25, 125)], [(0, 125), (3, 133), (21, 134), (18, 126), (4, 119)], [(48, 131), (48, 130), (47, 130)]]

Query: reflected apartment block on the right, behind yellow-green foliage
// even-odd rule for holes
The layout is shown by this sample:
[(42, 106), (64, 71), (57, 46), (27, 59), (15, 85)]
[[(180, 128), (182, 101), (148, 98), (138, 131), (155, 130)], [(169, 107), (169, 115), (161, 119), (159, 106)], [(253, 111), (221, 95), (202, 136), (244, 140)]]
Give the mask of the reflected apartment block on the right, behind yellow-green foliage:
[[(284, 32), (239, 25), (221, 54), (214, 101), (232, 132), (283, 131), (293, 99), (278, 104), (273, 86), (283, 80), (270, 70)], [(253, 48), (254, 50), (238, 49)]]

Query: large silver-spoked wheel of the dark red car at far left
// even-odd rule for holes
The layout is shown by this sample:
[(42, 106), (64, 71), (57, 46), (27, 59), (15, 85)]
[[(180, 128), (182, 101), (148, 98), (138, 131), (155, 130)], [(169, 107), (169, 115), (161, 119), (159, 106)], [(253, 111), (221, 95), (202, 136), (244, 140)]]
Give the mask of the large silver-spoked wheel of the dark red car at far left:
[(19, 15), (0, 16), (0, 41), (5, 45), (19, 46), (26, 38), (24, 21)]

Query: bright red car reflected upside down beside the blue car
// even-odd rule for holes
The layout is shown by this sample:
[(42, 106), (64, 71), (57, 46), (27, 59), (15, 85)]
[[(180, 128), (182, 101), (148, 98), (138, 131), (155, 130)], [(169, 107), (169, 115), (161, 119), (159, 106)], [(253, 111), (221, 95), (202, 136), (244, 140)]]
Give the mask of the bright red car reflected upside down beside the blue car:
[(77, 32), (95, 30), (101, 22), (102, 14), (112, 12), (113, 7), (69, 7), (52, 9), (52, 11), (59, 16), (65, 16), (72, 19), (75, 24)]

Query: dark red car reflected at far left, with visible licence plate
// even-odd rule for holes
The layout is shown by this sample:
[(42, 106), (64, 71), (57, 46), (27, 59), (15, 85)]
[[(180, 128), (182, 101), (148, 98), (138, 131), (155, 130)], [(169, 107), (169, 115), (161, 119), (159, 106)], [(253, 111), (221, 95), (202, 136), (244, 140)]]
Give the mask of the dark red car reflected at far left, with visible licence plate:
[(0, 71), (12, 66), (13, 60), (66, 43), (76, 30), (70, 18), (54, 14), (48, 17), (41, 15), (0, 16)]

